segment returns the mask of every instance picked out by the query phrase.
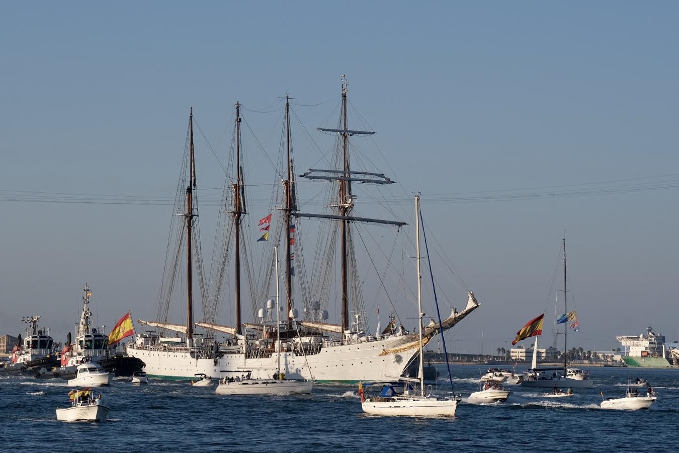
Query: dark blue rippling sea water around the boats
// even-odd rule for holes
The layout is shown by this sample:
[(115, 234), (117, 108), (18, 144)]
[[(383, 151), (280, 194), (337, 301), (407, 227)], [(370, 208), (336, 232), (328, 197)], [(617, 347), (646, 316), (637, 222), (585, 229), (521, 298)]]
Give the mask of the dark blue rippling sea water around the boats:
[[(439, 366), (444, 376), (444, 367)], [(453, 367), (456, 393), (477, 390), (478, 366)], [(599, 407), (624, 393), (627, 377), (643, 376), (659, 393), (646, 411)], [(506, 403), (471, 404), (456, 418), (367, 416), (356, 386), (316, 384), (312, 395), (218, 396), (215, 387), (151, 380), (133, 386), (115, 378), (102, 394), (111, 406), (103, 423), (65, 423), (62, 380), (0, 378), (0, 446), (5, 451), (107, 452), (673, 452), (679, 427), (679, 369), (592, 368), (593, 389), (563, 399), (511, 386)], [(441, 380), (441, 384), (445, 384)], [(547, 389), (549, 391), (549, 389)], [(100, 450), (103, 451), (103, 450)]]

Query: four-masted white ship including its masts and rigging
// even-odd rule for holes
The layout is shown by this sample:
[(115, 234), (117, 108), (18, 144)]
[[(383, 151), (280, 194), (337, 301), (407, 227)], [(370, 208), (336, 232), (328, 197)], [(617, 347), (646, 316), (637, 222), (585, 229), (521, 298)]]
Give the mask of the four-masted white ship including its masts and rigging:
[[(227, 164), (229, 177), (223, 198), (223, 213), (227, 216), (221, 233), (224, 242), (216, 252), (217, 268), (210, 272), (210, 284), (213, 285), (210, 288), (204, 281), (200, 240), (197, 237), (194, 118), (193, 113), (189, 113), (180, 183), (182, 189), (177, 192), (173, 216), (178, 221), (173, 222), (173, 231), (170, 233), (171, 237), (178, 240), (174, 249), (168, 248), (166, 270), (170, 272), (164, 275), (160, 291), (159, 319), (139, 320), (139, 323), (156, 330), (141, 333), (127, 344), (128, 355), (142, 359), (149, 376), (189, 379), (196, 374), (227, 377), (229, 374), (240, 376), (247, 371), (251, 372), (253, 378), (270, 378), (280, 363), (280, 370), (288, 378), (357, 382), (398, 378), (417, 360), (419, 336), (406, 331), (403, 325), (397, 327), (397, 315), (390, 316), (384, 330), (378, 328), (371, 331), (367, 325), (361, 274), (356, 266), (354, 252), (354, 243), (358, 239), (352, 230), (357, 224), (400, 228), (405, 223), (359, 217), (352, 213), (358, 198), (352, 191), (352, 184), (382, 185), (394, 181), (383, 173), (352, 169), (351, 138), (374, 132), (349, 127), (347, 92), (348, 81), (343, 77), (339, 123), (336, 128), (319, 128), (321, 132), (335, 137), (333, 156), (326, 159), (331, 168), (312, 168), (304, 175), (299, 175), (310, 181), (329, 183), (330, 189), (326, 191), (329, 199), (324, 204), (323, 213), (303, 213), (298, 207), (291, 144), (291, 98), (285, 96), (279, 156), (282, 170), (277, 173), (278, 182), (274, 186), (276, 202), (272, 212), (259, 221), (260, 234), (263, 234), (257, 242), (263, 242), (260, 249), (263, 257), (258, 262), (263, 264), (257, 267), (256, 272), (253, 270), (255, 259), (249, 251), (249, 244), (253, 241), (247, 240), (249, 236), (242, 225), (248, 214), (249, 203), (242, 155), (242, 105), (235, 104), (234, 144)], [(314, 221), (318, 221), (320, 228), (330, 230), (318, 234), (314, 265), (310, 269), (304, 266), (301, 249), (305, 237), (301, 232), (302, 219), (310, 219), (312, 228), (317, 228)], [(278, 244), (285, 249), (285, 262), (282, 265), (285, 295), (282, 295), (281, 300), (285, 309), (281, 308), (283, 319), (280, 325), (273, 322), (276, 319), (274, 306), (263, 302), (268, 299), (273, 273), (273, 266), (266, 263), (274, 262), (272, 254), (274, 246)], [(267, 250), (271, 253), (270, 257), (265, 255)], [(339, 261), (339, 270), (335, 274), (333, 266), (336, 261)], [(168, 312), (175, 289), (174, 282), (182, 264), (186, 272), (186, 318), (185, 323), (177, 324), (168, 321)], [(335, 276), (339, 282), (336, 291), (339, 322), (330, 323), (328, 308), (333, 293), (329, 285), (335, 281)], [(233, 281), (232, 292), (229, 291), (228, 295), (223, 294), (226, 289), (222, 283), (226, 280)], [(295, 280), (296, 284), (293, 285)], [(380, 283), (384, 287), (384, 283)], [(293, 287), (297, 288), (297, 293)], [(200, 291), (204, 319), (195, 322), (194, 299), (197, 290)], [(242, 320), (242, 301), (247, 291), (251, 313), (256, 320), (253, 323)], [(466, 296), (464, 310), (458, 312), (453, 308), (440, 323), (432, 320), (424, 327), (423, 345), (478, 308), (479, 303), (472, 291), (468, 290)], [(217, 323), (219, 302), (227, 298), (234, 300), (234, 325)], [(216, 338), (219, 335), (226, 336), (227, 340), (218, 341)]]

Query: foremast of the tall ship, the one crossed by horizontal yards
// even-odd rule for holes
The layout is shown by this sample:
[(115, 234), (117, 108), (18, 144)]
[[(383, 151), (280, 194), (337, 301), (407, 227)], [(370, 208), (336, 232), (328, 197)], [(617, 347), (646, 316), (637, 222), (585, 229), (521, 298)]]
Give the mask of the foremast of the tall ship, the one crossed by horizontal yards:
[[(348, 89), (348, 82), (342, 80), (342, 128), (344, 132), (342, 133), (342, 154), (344, 155), (344, 177), (350, 177), (349, 172), (349, 156), (348, 156), (348, 142), (349, 133), (347, 132), (348, 120), (346, 115), (346, 92)], [(339, 213), (343, 217), (348, 213), (348, 196), (351, 195), (351, 185), (348, 179), (342, 179), (339, 181)], [(349, 327), (349, 291), (347, 282), (347, 221), (342, 219), (342, 226), (340, 235), (342, 236), (342, 333)]]

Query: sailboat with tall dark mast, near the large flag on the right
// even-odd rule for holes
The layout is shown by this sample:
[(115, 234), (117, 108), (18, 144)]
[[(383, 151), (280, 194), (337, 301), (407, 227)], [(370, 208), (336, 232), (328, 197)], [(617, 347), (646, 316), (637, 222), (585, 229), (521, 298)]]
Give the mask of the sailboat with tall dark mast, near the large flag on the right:
[[(568, 313), (568, 288), (566, 286), (566, 237), (563, 242), (564, 249), (564, 313)], [(541, 332), (541, 331), (540, 331)], [(564, 367), (538, 368), (538, 338), (535, 337), (533, 359), (530, 369), (524, 372), (524, 380), (521, 386), (529, 388), (593, 388), (594, 384), (589, 378), (589, 373), (582, 369), (568, 366), (568, 323), (564, 323)]]

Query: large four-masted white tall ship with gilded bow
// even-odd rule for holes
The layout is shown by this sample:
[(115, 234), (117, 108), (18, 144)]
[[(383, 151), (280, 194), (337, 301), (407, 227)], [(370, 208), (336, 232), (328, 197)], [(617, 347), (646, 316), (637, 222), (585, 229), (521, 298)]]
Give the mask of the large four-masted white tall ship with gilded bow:
[[(285, 143), (287, 144), (287, 156), (281, 160), (287, 162), (286, 170), (283, 173), (283, 189), (285, 192), (285, 200), (283, 206), (280, 208), (285, 221), (283, 223), (283, 237), (285, 243), (290, 244), (290, 228), (291, 219), (299, 219), (300, 217), (310, 218), (324, 218), (339, 222), (339, 230), (342, 231), (340, 238), (342, 246), (341, 263), (342, 263), (342, 290), (340, 294), (340, 303), (342, 304), (342, 319), (340, 323), (328, 323), (327, 310), (323, 310), (323, 304), (327, 304), (329, 297), (327, 291), (322, 292), (318, 296), (319, 300), (304, 300), (305, 318), (299, 325), (304, 329), (301, 331), (300, 338), (291, 330), (287, 331), (285, 338), (282, 337), (280, 348), (272, 350), (270, 348), (272, 339), (266, 337), (265, 331), (261, 324), (243, 323), (240, 316), (240, 219), (245, 214), (245, 198), (244, 198), (244, 182), (242, 179), (242, 171), (240, 170), (240, 122), (242, 116), (240, 113), (240, 104), (236, 103), (236, 122), (235, 133), (236, 137), (234, 149), (236, 150), (234, 165), (235, 173), (233, 177), (234, 183), (228, 187), (230, 199), (232, 204), (227, 207), (226, 211), (233, 217), (232, 228), (234, 231), (234, 247), (228, 249), (234, 250), (234, 283), (236, 284), (236, 291), (234, 294), (235, 309), (235, 326), (219, 325), (215, 320), (206, 320), (194, 323), (192, 319), (192, 295), (189, 289), (187, 295), (187, 324), (178, 325), (168, 323), (166, 320), (162, 321), (142, 321), (140, 323), (149, 325), (151, 327), (158, 327), (162, 331), (173, 331), (179, 333), (179, 336), (170, 336), (167, 334), (160, 335), (159, 333), (142, 333), (136, 336), (134, 342), (128, 343), (128, 355), (142, 359), (146, 366), (145, 371), (149, 376), (167, 378), (167, 379), (187, 379), (194, 376), (194, 374), (202, 373), (208, 376), (219, 376), (221, 370), (227, 369), (234, 373), (242, 374), (247, 370), (251, 370), (253, 378), (269, 379), (270, 376), (278, 369), (278, 362), (281, 363), (281, 370), (285, 376), (295, 380), (310, 380), (315, 378), (319, 381), (331, 382), (359, 382), (359, 380), (388, 380), (388, 376), (402, 376), (404, 370), (408, 367), (411, 361), (416, 357), (420, 340), (418, 335), (414, 333), (403, 333), (400, 329), (386, 329), (378, 335), (368, 329), (366, 325), (365, 311), (357, 310), (353, 314), (349, 312), (349, 300), (355, 289), (351, 288), (348, 280), (356, 274), (347, 265), (348, 261), (352, 259), (353, 251), (351, 249), (352, 242), (350, 240), (350, 226), (353, 223), (380, 223), (382, 225), (403, 225), (399, 221), (383, 221), (379, 219), (367, 219), (363, 217), (354, 217), (350, 215), (350, 211), (354, 206), (356, 196), (352, 195), (351, 183), (393, 183), (388, 177), (378, 173), (368, 173), (354, 171), (349, 167), (349, 141), (350, 137), (357, 135), (372, 134), (373, 132), (366, 132), (360, 130), (351, 130), (348, 127), (346, 105), (347, 105), (347, 87), (348, 82), (342, 79), (342, 113), (341, 113), (341, 128), (338, 129), (321, 129), (324, 132), (337, 134), (338, 137), (338, 153), (336, 162), (339, 162), (340, 168), (332, 170), (310, 170), (303, 177), (307, 179), (316, 179), (320, 181), (331, 181), (337, 184), (339, 193), (335, 194), (333, 200), (333, 215), (325, 214), (304, 214), (297, 212), (297, 204), (295, 201), (296, 189), (295, 179), (293, 173), (293, 165), (290, 154), (290, 128), (289, 128), (289, 99), (286, 97), (286, 130)], [(187, 232), (183, 237), (191, 237), (192, 220), (196, 213), (189, 209), (191, 206), (191, 194), (195, 189), (196, 179), (194, 172), (194, 147), (193, 147), (193, 132), (192, 132), (192, 115), (189, 116), (189, 143), (190, 143), (190, 158), (185, 158), (185, 162), (190, 162), (191, 170), (190, 180), (187, 185), (186, 201), (183, 202), (186, 209), (184, 216), (186, 219), (185, 231)], [(342, 164), (342, 162), (344, 164)], [(320, 173), (320, 174), (319, 174)], [(341, 200), (337, 204), (337, 199)], [(190, 253), (189, 243), (190, 239), (186, 241), (187, 253)], [(289, 246), (286, 245), (286, 248)], [(225, 247), (225, 249), (227, 249)], [(334, 252), (333, 252), (334, 253)], [(333, 255), (329, 253), (329, 255)], [(177, 252), (175, 255), (168, 255), (170, 258), (180, 256)], [(286, 250), (286, 297), (287, 302), (287, 322), (286, 325), (291, 325), (295, 319), (297, 309), (293, 307), (293, 297), (291, 291), (291, 266), (290, 266), (289, 249)], [(297, 259), (301, 261), (301, 256)], [(168, 260), (169, 261), (169, 260)], [(190, 259), (187, 267), (191, 267)], [(173, 265), (168, 268), (173, 268)], [(328, 273), (329, 274), (329, 273)], [(220, 274), (221, 275), (221, 274)], [(219, 280), (219, 278), (217, 278)], [(190, 282), (190, 279), (189, 279)], [(356, 285), (360, 285), (356, 282)], [(190, 283), (189, 283), (190, 285)], [(170, 285), (168, 285), (170, 287)], [(452, 310), (451, 314), (441, 321), (441, 325), (435, 323), (428, 325), (424, 329), (422, 335), (422, 345), (424, 346), (431, 338), (433, 338), (439, 331), (452, 328), (456, 323), (462, 321), (467, 315), (473, 312), (479, 303), (475, 299), (471, 291), (467, 294), (467, 302), (464, 310)], [(169, 297), (162, 297), (163, 303)], [(253, 298), (253, 304), (256, 303)], [(159, 310), (162, 312), (162, 310)], [(167, 313), (166, 311), (164, 312)], [(395, 327), (395, 323), (394, 327)], [(194, 327), (206, 329), (208, 335), (200, 337), (194, 335)], [(250, 333), (248, 333), (248, 331)], [(218, 343), (213, 338), (210, 338), (211, 333), (227, 334), (231, 339), (226, 343)], [(256, 336), (256, 338), (253, 338)], [(313, 369), (313, 373), (310, 371)], [(313, 376), (312, 376), (313, 374)]]

